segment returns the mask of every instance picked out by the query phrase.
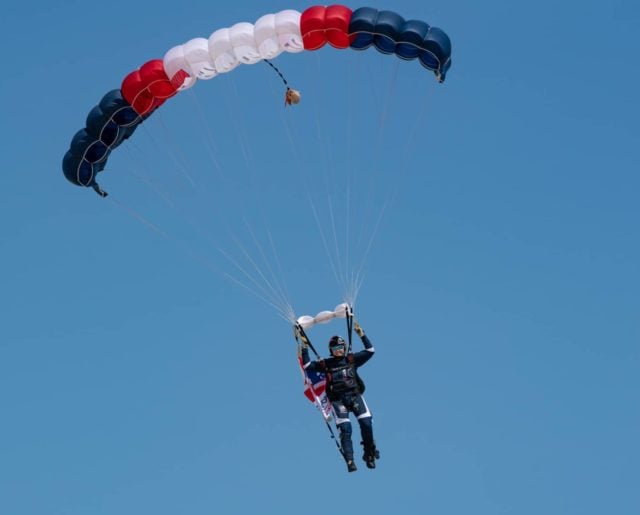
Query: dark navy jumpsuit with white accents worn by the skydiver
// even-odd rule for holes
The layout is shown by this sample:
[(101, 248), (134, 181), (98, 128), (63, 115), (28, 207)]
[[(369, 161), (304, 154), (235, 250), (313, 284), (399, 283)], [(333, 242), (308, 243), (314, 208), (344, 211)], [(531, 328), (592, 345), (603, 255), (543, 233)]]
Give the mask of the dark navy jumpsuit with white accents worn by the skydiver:
[(340, 443), (347, 461), (353, 460), (353, 442), (351, 441), (351, 422), (349, 412), (353, 413), (360, 424), (360, 435), (365, 454), (375, 451), (371, 412), (362, 396), (362, 386), (356, 370), (364, 365), (375, 352), (367, 335), (363, 335), (364, 350), (343, 357), (331, 356), (325, 360), (311, 361), (309, 350), (302, 349), (302, 363), (305, 370), (324, 372), (327, 376), (327, 397), (331, 401), (336, 417), (336, 426), (340, 430)]

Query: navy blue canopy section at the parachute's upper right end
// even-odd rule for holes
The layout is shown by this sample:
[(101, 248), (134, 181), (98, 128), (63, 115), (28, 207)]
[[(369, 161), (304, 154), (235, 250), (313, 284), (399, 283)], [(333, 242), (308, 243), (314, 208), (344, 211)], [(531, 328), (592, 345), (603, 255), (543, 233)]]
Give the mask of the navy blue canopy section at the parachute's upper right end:
[(418, 59), (444, 82), (451, 67), (451, 40), (447, 34), (420, 20), (405, 20), (392, 11), (361, 7), (353, 11), (349, 34), (354, 50), (374, 46), (383, 54), (396, 54), (401, 59)]

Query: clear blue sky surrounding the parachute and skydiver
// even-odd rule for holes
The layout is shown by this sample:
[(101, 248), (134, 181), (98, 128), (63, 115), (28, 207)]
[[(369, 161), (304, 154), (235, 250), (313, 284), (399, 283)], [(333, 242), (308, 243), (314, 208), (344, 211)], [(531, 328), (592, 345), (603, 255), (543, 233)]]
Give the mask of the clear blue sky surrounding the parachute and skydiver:
[[(373, 5), (448, 32), (444, 85), (373, 50), (284, 55), (295, 109), (267, 67), (244, 67), (170, 100), (114, 152), (109, 199), (64, 179), (71, 137), (129, 71), (309, 5), (3, 7), (0, 513), (640, 513), (638, 2)], [(381, 102), (354, 95), (372, 82), (360, 62), (382, 68), (363, 91), (389, 102), (384, 144), (368, 119)], [(165, 129), (169, 154), (154, 145)], [(382, 459), (349, 475), (301, 394), (290, 327), (136, 180), (220, 207), (190, 215), (219, 247), (217, 221), (268, 222), (296, 313), (314, 314), (341, 291), (292, 177), (324, 149), (323, 173), (400, 185), (356, 306), (377, 349), (362, 375)], [(212, 192), (199, 204), (176, 155)], [(253, 190), (227, 180), (242, 174)], [(342, 329), (312, 339), (324, 350)]]

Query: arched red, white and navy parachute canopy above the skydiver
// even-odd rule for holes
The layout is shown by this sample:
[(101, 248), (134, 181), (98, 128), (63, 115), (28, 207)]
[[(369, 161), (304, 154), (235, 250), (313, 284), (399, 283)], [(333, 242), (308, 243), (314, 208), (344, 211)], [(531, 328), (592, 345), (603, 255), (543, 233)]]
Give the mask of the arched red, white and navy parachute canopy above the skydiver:
[[(64, 156), (65, 177), (79, 186), (92, 187), (102, 196), (96, 176), (106, 166), (111, 151), (129, 138), (136, 127), (167, 99), (240, 64), (275, 58), (282, 52), (303, 53), (326, 44), (364, 50), (374, 47), (384, 54), (417, 60), (443, 82), (451, 66), (449, 37), (424, 21), (405, 20), (392, 11), (343, 5), (314, 6), (302, 13), (284, 10), (267, 14), (254, 24), (237, 23), (170, 49), (163, 59), (152, 59), (131, 72), (120, 89), (109, 91), (87, 116)], [(286, 84), (286, 81), (285, 81)], [(287, 102), (296, 93), (287, 89)]]

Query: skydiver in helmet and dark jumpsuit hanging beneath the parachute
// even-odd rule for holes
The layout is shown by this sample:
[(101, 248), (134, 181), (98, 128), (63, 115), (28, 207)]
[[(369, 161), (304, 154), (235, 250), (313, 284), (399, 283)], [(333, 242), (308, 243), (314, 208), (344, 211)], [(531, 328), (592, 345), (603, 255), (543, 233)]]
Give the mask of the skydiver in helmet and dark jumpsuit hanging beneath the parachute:
[(364, 447), (362, 459), (368, 468), (376, 467), (376, 459), (380, 458), (380, 453), (376, 449), (373, 439), (373, 426), (371, 424), (371, 412), (362, 396), (364, 383), (358, 376), (357, 369), (364, 365), (373, 356), (374, 348), (369, 338), (358, 324), (355, 322), (354, 329), (362, 340), (364, 350), (356, 353), (347, 352), (344, 338), (333, 336), (329, 340), (329, 352), (331, 357), (311, 361), (309, 358), (309, 342), (302, 339), (302, 363), (305, 370), (322, 372), (327, 379), (327, 397), (331, 401), (335, 413), (336, 426), (340, 430), (340, 443), (342, 453), (347, 462), (349, 472), (354, 472), (358, 468), (353, 461), (353, 443), (351, 441), (351, 422), (349, 412), (353, 413), (360, 425), (360, 436)]

